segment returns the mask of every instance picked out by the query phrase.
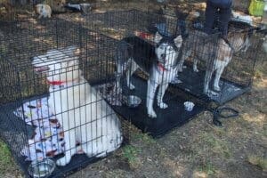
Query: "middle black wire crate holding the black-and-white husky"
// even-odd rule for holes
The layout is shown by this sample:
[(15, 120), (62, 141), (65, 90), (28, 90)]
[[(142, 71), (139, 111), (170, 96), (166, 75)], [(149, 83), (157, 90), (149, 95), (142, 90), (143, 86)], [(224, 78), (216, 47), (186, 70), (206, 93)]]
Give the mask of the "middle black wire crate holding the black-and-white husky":
[[(197, 98), (168, 87), (179, 82), (176, 77), (178, 71), (173, 69), (173, 65), (178, 62), (182, 36), (175, 17), (130, 10), (90, 14), (84, 20), (86, 28), (97, 29), (118, 40), (115, 53), (116, 81), (124, 93), (124, 102), (114, 108), (118, 114), (131, 120), (143, 132), (158, 137), (175, 126), (185, 124), (204, 110)], [(155, 39), (157, 30), (160, 32), (158, 41)], [(161, 40), (166, 43), (169, 41), (175, 49), (175, 52), (173, 49), (167, 54), (171, 59), (171, 63), (167, 64), (172, 65), (170, 70), (157, 61), (157, 55), (166, 54), (162, 50), (157, 52)], [(194, 105), (194, 109), (186, 110), (186, 101)]]

